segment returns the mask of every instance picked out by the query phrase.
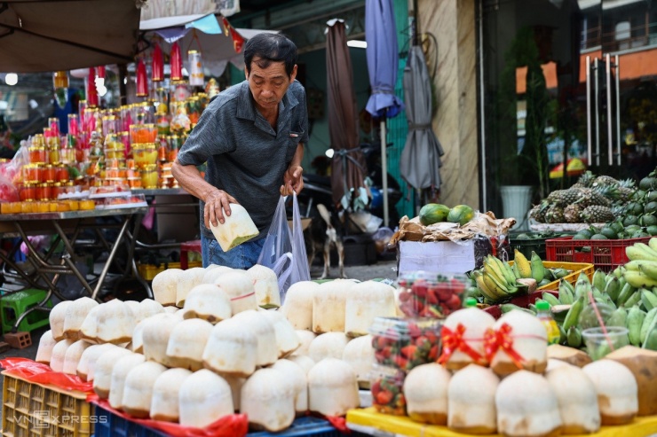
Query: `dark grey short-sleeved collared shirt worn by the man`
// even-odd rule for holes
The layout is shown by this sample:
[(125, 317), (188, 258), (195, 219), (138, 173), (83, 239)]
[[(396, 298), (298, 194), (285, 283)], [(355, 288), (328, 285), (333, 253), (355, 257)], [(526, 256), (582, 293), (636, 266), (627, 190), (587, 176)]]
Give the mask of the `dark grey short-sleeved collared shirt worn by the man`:
[[(183, 166), (207, 162), (205, 180), (237, 199), (260, 230), (257, 238), (263, 238), (299, 143), (308, 143), (308, 111), (301, 83), (292, 82), (279, 103), (274, 130), (257, 111), (249, 82), (244, 81), (212, 99), (178, 152), (178, 162)], [(201, 201), (201, 211), (204, 207)], [(201, 231), (214, 238), (202, 214)]]

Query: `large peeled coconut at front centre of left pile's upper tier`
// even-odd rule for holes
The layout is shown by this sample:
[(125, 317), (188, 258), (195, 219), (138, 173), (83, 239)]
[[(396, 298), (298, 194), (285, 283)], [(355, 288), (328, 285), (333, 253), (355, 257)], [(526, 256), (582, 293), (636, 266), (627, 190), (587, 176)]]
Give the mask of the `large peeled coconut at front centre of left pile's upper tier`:
[(234, 377), (256, 371), (257, 338), (241, 322), (229, 318), (215, 324), (203, 349), (203, 365)]

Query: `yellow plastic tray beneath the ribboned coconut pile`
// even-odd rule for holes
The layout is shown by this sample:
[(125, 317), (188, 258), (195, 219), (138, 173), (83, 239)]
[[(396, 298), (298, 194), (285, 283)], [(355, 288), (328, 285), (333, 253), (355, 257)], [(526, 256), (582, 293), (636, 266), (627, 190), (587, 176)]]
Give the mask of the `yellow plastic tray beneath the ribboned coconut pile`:
[[(354, 426), (354, 431), (365, 432), (367, 428), (374, 428), (387, 433), (396, 433), (408, 437), (464, 437), (464, 433), (450, 431), (447, 426), (423, 425), (408, 417), (391, 416), (377, 413), (374, 408), (347, 411), (347, 426)], [(598, 433), (570, 434), (573, 437), (647, 437), (657, 433), (657, 416), (637, 417), (630, 425), (603, 426)], [(491, 434), (497, 435), (500, 434)]]

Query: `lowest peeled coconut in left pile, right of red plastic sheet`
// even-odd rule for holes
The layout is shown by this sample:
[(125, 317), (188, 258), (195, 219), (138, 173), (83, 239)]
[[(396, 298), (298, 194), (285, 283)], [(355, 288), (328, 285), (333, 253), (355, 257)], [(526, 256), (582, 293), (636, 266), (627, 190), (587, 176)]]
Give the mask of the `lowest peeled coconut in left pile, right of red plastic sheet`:
[(241, 386), (240, 412), (251, 427), (275, 433), (292, 425), (296, 416), (295, 386), (287, 373), (260, 369)]

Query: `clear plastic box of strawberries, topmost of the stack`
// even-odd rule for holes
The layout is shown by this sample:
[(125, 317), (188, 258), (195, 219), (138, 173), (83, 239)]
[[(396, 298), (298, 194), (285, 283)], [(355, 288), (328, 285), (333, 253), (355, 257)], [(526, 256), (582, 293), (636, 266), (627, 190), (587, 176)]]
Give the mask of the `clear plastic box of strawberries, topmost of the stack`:
[(400, 309), (408, 317), (444, 318), (463, 307), (470, 281), (463, 275), (407, 272), (397, 279)]

